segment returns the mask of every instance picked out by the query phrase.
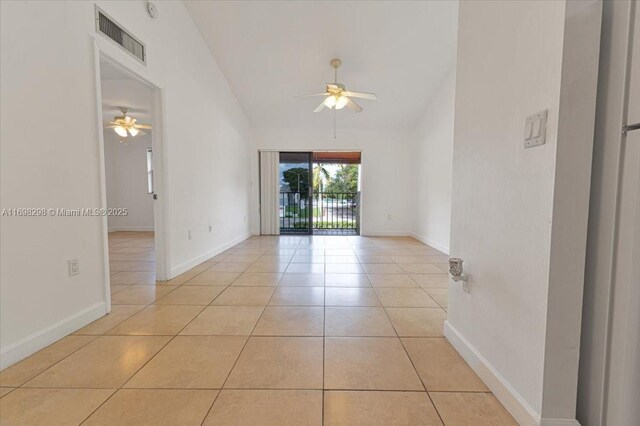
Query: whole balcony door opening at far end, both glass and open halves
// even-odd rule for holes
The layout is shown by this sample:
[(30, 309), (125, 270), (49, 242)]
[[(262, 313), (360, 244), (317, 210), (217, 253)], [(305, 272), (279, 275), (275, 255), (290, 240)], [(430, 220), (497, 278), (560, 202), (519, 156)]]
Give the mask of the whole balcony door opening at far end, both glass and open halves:
[(280, 153), (280, 234), (360, 234), (360, 152)]

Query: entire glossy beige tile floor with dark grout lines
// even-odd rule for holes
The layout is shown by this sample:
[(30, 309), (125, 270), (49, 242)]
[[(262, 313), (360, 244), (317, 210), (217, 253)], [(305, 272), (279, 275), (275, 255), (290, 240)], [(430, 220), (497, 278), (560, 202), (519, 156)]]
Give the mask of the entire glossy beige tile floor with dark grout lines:
[(414, 239), (253, 237), (166, 282), (152, 233), (109, 250), (111, 313), (2, 371), (0, 424), (516, 424)]

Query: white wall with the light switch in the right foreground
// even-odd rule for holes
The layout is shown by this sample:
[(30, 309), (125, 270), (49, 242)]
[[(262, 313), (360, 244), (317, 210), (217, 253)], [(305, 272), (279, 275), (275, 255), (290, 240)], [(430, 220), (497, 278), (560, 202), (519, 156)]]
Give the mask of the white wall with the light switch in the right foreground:
[(575, 424), (600, 13), (460, 3), (451, 254), (471, 292), (451, 284), (446, 335), (521, 424)]

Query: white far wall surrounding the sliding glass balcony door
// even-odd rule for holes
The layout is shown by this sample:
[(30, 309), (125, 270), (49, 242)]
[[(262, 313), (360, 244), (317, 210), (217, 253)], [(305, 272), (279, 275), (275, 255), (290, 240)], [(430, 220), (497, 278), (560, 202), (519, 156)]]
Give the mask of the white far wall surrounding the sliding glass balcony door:
[[(351, 111), (341, 111), (350, 114)], [(362, 151), (362, 235), (409, 235), (415, 209), (411, 132), (404, 129), (256, 129), (258, 149)], [(254, 154), (257, 170), (257, 152)], [(257, 200), (257, 174), (254, 175)], [(254, 206), (257, 210), (257, 205)], [(391, 219), (388, 219), (391, 215)], [(254, 230), (259, 229), (254, 225)]]

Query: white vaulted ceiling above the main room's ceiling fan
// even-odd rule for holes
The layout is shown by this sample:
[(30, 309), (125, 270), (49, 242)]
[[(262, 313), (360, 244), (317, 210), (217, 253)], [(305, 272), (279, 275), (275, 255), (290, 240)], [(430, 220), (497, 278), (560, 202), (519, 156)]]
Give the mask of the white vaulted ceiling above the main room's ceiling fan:
[(319, 127), (322, 98), (293, 99), (338, 80), (370, 91), (338, 127), (413, 126), (455, 62), (457, 1), (185, 1), (249, 120), (256, 127)]

